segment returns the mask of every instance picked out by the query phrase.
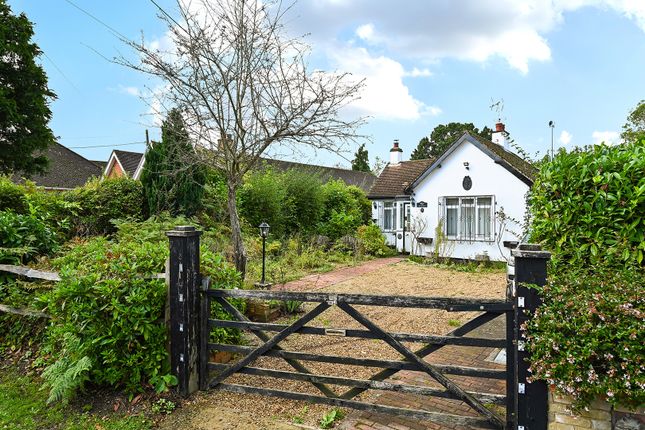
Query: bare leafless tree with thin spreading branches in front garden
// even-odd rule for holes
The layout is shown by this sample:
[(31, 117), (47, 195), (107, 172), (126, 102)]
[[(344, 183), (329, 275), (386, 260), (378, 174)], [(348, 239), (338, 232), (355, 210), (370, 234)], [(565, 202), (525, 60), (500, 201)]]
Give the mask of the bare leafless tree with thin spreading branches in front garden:
[(221, 169), (228, 185), (234, 261), (246, 252), (236, 207), (243, 176), (271, 145), (341, 151), (356, 141), (363, 118), (339, 115), (362, 81), (307, 70), (309, 46), (283, 27), (280, 1), (177, 0), (179, 18), (161, 10), (171, 49), (126, 41), (137, 61), (117, 62), (160, 78), (163, 105), (178, 107), (200, 162)]

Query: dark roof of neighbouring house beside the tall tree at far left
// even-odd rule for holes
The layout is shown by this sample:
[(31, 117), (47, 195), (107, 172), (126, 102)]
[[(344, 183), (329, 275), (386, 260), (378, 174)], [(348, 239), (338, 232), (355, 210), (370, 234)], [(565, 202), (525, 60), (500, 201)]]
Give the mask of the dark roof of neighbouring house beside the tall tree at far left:
[(49, 159), (47, 172), (28, 178), (38, 186), (52, 190), (71, 190), (85, 185), (93, 176), (101, 176), (101, 167), (60, 143), (49, 145), (44, 154)]

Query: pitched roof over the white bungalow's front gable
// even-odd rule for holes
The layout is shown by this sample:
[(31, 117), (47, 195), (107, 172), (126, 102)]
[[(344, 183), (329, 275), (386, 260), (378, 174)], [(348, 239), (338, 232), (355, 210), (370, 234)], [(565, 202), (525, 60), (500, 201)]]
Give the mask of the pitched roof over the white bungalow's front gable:
[(422, 172), (422, 174), (419, 175), (414, 180), (414, 182), (410, 183), (410, 188), (417, 186), (434, 169), (441, 167), (443, 160), (449, 157), (450, 154), (452, 154), (452, 152), (457, 149), (457, 147), (464, 141), (468, 141), (471, 144), (475, 145), (484, 154), (492, 158), (495, 163), (504, 167), (529, 187), (533, 185), (533, 180), (537, 175), (537, 169), (533, 167), (529, 162), (522, 159), (519, 155), (511, 151), (507, 151), (502, 146), (493, 143), (488, 139), (484, 139), (481, 136), (476, 136), (468, 132), (464, 132), (464, 134), (459, 139), (457, 139), (457, 141), (453, 143), (448, 149), (446, 149), (443, 154), (441, 154), (441, 156), (428, 167), (427, 170)]

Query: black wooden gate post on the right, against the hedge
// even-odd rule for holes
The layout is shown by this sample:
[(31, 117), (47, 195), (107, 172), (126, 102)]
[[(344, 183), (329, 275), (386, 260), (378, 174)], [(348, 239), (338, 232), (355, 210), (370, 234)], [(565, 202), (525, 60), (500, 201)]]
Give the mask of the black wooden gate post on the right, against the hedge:
[[(514, 386), (516, 425), (518, 430), (546, 430), (548, 424), (548, 389), (546, 382), (527, 382), (528, 352), (520, 327), (542, 304), (538, 292), (526, 285), (546, 285), (547, 263), (551, 254), (539, 245), (520, 244), (512, 251), (515, 259), (515, 339), (516, 384)], [(508, 353), (508, 351), (507, 351)]]

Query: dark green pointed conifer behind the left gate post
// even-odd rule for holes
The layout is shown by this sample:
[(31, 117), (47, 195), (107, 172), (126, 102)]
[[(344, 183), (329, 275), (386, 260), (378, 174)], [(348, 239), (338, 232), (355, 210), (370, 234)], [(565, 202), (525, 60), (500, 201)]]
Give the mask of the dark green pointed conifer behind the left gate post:
[(194, 153), (181, 112), (172, 109), (161, 126), (161, 142), (148, 148), (141, 172), (150, 214), (190, 216), (200, 209), (206, 173), (194, 162)]

